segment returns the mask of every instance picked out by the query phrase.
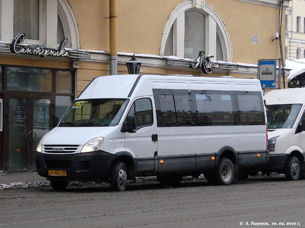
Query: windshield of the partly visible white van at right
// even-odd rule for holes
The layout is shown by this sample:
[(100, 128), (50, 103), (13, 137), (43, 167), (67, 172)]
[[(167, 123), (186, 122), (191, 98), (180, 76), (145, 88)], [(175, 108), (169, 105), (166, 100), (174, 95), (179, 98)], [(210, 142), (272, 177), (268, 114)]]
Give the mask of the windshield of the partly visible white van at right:
[(302, 104), (267, 105), (268, 129), (292, 128)]

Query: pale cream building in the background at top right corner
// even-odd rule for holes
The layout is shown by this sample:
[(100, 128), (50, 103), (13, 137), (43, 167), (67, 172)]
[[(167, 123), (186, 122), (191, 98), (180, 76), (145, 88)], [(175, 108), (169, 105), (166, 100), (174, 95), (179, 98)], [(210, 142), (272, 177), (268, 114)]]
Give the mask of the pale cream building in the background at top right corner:
[[(305, 58), (305, 1), (291, 0), (285, 12), (285, 56)], [(282, 26), (284, 26), (282, 24)]]

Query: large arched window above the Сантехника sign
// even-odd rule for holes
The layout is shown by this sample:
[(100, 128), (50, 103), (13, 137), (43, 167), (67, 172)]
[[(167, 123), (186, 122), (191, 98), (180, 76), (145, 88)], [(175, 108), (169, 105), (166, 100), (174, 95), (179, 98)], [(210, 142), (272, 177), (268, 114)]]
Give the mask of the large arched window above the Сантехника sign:
[(66, 47), (80, 48), (78, 32), (71, 7), (65, 0), (0, 1), (1, 37), (12, 42), (18, 33), (25, 33), (23, 43), (57, 48), (63, 38)]

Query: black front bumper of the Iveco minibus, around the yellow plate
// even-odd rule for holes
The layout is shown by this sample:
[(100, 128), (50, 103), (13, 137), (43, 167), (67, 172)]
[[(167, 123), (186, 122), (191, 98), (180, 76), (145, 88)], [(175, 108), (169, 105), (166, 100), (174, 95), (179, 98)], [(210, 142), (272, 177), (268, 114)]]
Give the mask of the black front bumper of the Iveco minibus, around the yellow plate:
[[(108, 179), (116, 155), (105, 151), (82, 154), (43, 154), (36, 152), (37, 173), (46, 178), (68, 181), (103, 181)], [(66, 176), (49, 176), (48, 170), (65, 170)]]

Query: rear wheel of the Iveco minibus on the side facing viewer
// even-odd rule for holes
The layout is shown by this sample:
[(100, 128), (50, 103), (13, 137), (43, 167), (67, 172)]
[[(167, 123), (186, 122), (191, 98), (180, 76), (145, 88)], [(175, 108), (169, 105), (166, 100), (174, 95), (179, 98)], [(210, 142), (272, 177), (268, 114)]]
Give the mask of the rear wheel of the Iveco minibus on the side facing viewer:
[(219, 159), (217, 168), (213, 171), (213, 181), (217, 185), (230, 185), (234, 178), (234, 167), (230, 159)]

